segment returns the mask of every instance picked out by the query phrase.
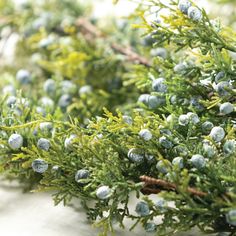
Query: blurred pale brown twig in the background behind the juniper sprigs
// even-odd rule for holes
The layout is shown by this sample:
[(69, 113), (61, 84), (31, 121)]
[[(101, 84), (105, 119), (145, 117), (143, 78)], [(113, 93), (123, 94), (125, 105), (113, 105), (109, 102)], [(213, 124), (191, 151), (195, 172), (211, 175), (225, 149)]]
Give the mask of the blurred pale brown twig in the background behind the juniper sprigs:
[[(95, 25), (93, 25), (85, 18), (78, 19), (77, 25), (81, 28), (83, 33), (87, 35), (87, 39), (90, 41), (93, 40), (94, 37), (106, 38), (106, 35), (102, 31), (100, 31)], [(129, 61), (133, 61), (148, 67), (151, 66), (151, 63), (148, 61), (148, 59), (140, 56), (139, 54), (134, 52), (130, 47), (125, 47), (117, 43), (112, 43), (110, 46), (114, 51), (125, 55)]]

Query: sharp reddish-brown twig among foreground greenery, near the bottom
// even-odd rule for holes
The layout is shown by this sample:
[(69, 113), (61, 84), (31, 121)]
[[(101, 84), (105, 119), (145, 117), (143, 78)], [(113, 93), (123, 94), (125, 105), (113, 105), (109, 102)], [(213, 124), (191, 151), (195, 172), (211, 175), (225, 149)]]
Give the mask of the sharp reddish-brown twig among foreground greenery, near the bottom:
[[(155, 179), (155, 178), (152, 178), (152, 177), (149, 177), (149, 176), (146, 176), (146, 175), (140, 176), (140, 180), (145, 183), (145, 186), (144, 186), (144, 189), (143, 189), (144, 192), (145, 192), (145, 189), (147, 189), (147, 192), (156, 193), (158, 187), (159, 188), (161, 187), (161, 188), (166, 189), (166, 190), (177, 191), (177, 186), (175, 184), (167, 182), (165, 180)], [(154, 188), (149, 188), (148, 187), (149, 185), (154, 185), (157, 188), (155, 188), (155, 187)], [(153, 192), (151, 190), (153, 190)], [(199, 191), (199, 190), (197, 190), (195, 188), (191, 188), (191, 187), (188, 187), (187, 191), (190, 194), (195, 195), (195, 196), (199, 196), (199, 197), (205, 197), (207, 195), (207, 193)]]

